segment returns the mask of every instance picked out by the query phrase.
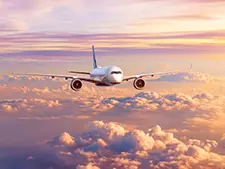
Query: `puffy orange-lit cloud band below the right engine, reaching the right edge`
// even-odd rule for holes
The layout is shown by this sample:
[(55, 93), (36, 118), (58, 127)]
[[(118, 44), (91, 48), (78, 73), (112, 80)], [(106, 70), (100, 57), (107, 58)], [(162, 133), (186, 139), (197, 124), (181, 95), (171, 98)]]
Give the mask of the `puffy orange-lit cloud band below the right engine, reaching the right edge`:
[[(213, 96), (209, 93), (187, 95), (184, 93), (160, 94), (156, 92), (141, 92), (133, 97), (106, 98), (95, 101), (94, 110), (105, 111), (113, 108), (172, 111), (172, 110), (206, 110), (209, 108), (223, 108), (224, 96)], [(88, 104), (92, 104), (89, 102)]]

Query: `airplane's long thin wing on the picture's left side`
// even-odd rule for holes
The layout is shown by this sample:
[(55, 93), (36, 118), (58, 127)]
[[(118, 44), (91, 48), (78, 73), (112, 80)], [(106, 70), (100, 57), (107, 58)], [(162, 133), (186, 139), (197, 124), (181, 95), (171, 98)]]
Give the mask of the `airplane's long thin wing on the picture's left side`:
[(93, 78), (86, 78), (86, 77), (77, 77), (71, 75), (56, 75), (56, 74), (38, 74), (38, 73), (26, 73), (26, 74), (19, 74), (13, 73), (13, 75), (18, 76), (39, 76), (39, 77), (51, 77), (51, 78), (64, 78), (64, 79), (80, 79), (81, 81), (91, 82), (91, 83), (101, 83), (102, 81), (99, 79)]

